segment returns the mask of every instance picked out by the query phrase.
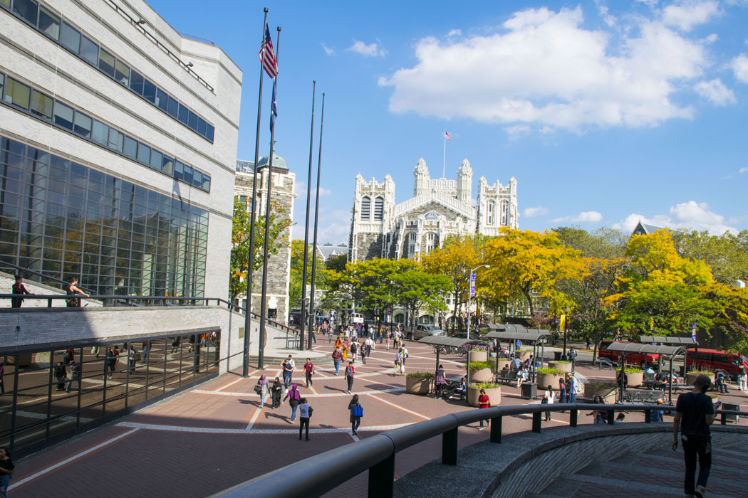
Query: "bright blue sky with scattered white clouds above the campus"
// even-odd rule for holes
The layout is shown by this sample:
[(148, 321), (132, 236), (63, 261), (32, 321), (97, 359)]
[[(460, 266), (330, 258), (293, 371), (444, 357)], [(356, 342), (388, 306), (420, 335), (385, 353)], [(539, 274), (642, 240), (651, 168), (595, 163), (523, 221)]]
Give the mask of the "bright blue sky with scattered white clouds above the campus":
[[(518, 181), (520, 228), (722, 233), (748, 228), (748, 1), (151, 0), (244, 71), (237, 157), (254, 158), (263, 7), (280, 25), (276, 151), (296, 173), (303, 237), (312, 81), (321, 93), (320, 243), (346, 243), (354, 179), (412, 196), (424, 158), (447, 178)], [(270, 83), (261, 155), (269, 150)], [(316, 181), (313, 178), (313, 181)]]

